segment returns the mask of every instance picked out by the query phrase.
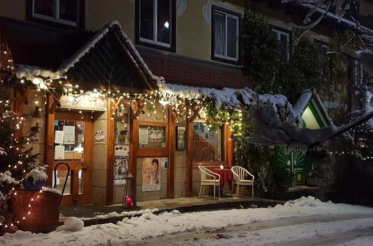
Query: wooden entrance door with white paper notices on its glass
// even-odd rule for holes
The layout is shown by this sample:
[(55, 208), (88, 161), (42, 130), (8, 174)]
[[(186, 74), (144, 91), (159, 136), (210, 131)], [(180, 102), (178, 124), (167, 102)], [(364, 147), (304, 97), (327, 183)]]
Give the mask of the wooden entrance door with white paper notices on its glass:
[(55, 173), (54, 167), (61, 162), (70, 166), (61, 206), (91, 202), (93, 121), (84, 115), (68, 111), (55, 113), (52, 187), (56, 184), (55, 188), (62, 192), (67, 175), (66, 165), (59, 165)]

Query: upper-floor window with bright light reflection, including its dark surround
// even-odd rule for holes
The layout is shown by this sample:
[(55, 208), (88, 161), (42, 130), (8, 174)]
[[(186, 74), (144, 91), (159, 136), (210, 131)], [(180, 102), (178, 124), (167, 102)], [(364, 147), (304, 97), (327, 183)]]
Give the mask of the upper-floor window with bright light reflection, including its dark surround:
[(137, 40), (141, 45), (175, 47), (175, 0), (137, 0)]

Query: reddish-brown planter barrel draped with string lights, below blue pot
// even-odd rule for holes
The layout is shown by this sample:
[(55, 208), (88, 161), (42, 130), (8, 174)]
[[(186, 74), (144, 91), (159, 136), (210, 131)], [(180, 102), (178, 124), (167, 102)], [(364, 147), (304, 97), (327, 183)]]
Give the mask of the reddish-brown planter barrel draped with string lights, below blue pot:
[[(54, 231), (58, 226), (60, 195), (48, 191), (16, 190), (9, 203), (9, 212), (19, 230), (34, 233)], [(39, 195), (39, 198), (37, 196)], [(34, 202), (31, 202), (34, 199)], [(32, 204), (31, 204), (32, 203)], [(31, 209), (29, 205), (31, 204)], [(28, 211), (30, 210), (30, 214)], [(25, 216), (26, 219), (23, 219)]]

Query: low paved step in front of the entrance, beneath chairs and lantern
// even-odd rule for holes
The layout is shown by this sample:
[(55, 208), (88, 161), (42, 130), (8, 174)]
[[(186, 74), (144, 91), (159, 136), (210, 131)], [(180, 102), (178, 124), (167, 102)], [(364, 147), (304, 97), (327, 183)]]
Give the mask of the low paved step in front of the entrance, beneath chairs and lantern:
[[(141, 213), (136, 211), (143, 209), (154, 209), (154, 214), (172, 210), (179, 210), (180, 212), (193, 212), (202, 210), (214, 209), (233, 209), (233, 208), (248, 208), (248, 207), (268, 207), (278, 204), (284, 204), (284, 201), (267, 200), (252, 197), (239, 197), (238, 199), (232, 197), (222, 197), (213, 200), (212, 197), (205, 196), (204, 198), (188, 197), (188, 198), (175, 198), (175, 199), (161, 199), (155, 201), (142, 201), (138, 202), (138, 208), (126, 209), (121, 205), (79, 205), (79, 206), (66, 206), (60, 207), (59, 223), (62, 225), (65, 219), (74, 216), (81, 218), (84, 221), (84, 226), (91, 226), (96, 224), (116, 223), (126, 217), (140, 216)], [(133, 211), (133, 212), (130, 212)], [(129, 212), (126, 215), (120, 216), (105, 216), (105, 214), (117, 212)], [(101, 216), (99, 216), (101, 215)], [(102, 216), (103, 215), (103, 216)]]

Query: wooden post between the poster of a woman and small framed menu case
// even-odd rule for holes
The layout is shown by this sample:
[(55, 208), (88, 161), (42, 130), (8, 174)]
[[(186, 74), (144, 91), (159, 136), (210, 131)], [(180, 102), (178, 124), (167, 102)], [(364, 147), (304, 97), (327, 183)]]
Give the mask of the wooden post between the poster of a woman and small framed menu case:
[(168, 107), (168, 130), (169, 130), (169, 144), (168, 144), (168, 169), (167, 169), (167, 198), (173, 199), (175, 197), (175, 116), (172, 114), (171, 107)]

